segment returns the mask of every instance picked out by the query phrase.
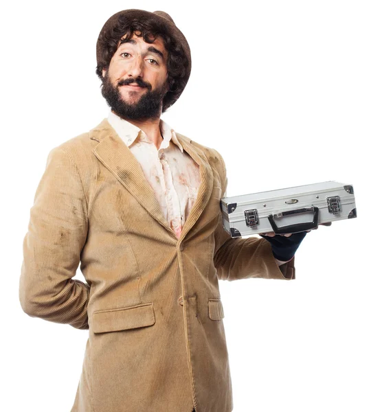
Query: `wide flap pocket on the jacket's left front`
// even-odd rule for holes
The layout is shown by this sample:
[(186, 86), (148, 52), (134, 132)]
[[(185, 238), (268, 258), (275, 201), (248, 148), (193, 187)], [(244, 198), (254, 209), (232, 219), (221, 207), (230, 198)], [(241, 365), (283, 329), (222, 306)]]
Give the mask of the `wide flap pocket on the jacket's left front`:
[(154, 323), (155, 316), (152, 303), (126, 308), (97, 310), (92, 314), (92, 330), (94, 333), (142, 328)]

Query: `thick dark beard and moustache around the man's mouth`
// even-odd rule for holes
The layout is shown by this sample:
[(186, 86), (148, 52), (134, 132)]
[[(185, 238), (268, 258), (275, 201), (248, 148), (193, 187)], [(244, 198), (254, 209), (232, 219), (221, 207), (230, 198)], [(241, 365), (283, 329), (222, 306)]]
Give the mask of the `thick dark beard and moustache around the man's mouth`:
[[(148, 90), (146, 92), (139, 91), (139, 93), (142, 93), (141, 97), (137, 101), (130, 103), (122, 98), (120, 87), (124, 87), (124, 84), (131, 84), (134, 82), (141, 87), (146, 87)], [(152, 90), (150, 84), (143, 82), (139, 78), (135, 80), (120, 80), (115, 86), (111, 83), (109, 70), (105, 73), (101, 85), (101, 93), (107, 101), (108, 106), (110, 106), (118, 116), (127, 120), (142, 121), (159, 118), (161, 115), (163, 98), (164, 95), (166, 95), (166, 92), (166, 82), (164, 82), (161, 87)]]

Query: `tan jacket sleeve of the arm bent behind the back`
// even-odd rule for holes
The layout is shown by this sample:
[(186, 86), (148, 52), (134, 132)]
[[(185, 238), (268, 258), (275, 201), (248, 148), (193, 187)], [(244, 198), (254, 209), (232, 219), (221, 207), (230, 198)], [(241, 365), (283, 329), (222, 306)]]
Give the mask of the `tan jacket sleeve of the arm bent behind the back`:
[(89, 284), (71, 279), (87, 231), (87, 201), (80, 174), (58, 146), (47, 157), (23, 240), (19, 300), (30, 317), (89, 328)]

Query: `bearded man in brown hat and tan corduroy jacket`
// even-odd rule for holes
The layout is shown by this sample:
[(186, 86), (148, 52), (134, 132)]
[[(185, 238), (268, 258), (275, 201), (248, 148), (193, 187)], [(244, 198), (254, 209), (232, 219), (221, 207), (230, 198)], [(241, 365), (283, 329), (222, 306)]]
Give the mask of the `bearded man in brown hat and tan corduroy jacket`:
[[(111, 16), (97, 63), (111, 111), (49, 153), (23, 242), (21, 306), (89, 330), (72, 412), (230, 412), (218, 279), (295, 279), (306, 233), (224, 230), (223, 158), (160, 119), (191, 69), (168, 14)], [(87, 283), (72, 279), (79, 264)]]

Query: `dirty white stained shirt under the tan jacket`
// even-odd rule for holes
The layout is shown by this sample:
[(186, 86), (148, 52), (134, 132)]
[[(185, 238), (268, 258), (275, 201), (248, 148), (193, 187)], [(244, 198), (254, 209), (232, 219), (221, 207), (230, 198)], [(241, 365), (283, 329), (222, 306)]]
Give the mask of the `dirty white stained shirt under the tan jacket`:
[(163, 137), (159, 150), (143, 130), (112, 111), (108, 121), (141, 165), (163, 216), (179, 238), (199, 191), (199, 165), (183, 150), (175, 130), (163, 119), (159, 122)]

